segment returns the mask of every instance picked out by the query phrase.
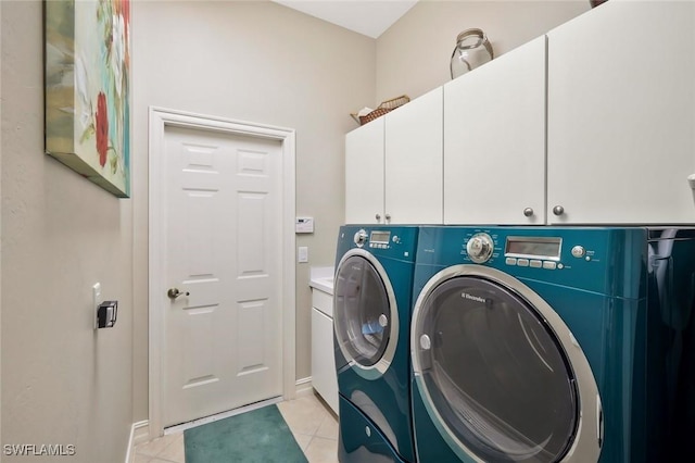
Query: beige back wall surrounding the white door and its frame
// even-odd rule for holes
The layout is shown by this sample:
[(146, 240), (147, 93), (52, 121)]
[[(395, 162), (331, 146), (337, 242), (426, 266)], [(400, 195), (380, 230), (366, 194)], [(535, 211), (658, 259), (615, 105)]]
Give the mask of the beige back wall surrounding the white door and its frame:
[(375, 97), (374, 39), (271, 2), (136, 2), (134, 40), (135, 421), (148, 418), (148, 107), (296, 129), (296, 378), (311, 375), (312, 265), (332, 265), (344, 217), (344, 134)]

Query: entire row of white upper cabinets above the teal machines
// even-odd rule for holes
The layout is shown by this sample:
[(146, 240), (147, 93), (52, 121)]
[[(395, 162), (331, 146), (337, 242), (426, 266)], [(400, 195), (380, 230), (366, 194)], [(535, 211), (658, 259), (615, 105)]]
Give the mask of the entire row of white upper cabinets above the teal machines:
[(605, 2), (345, 155), (348, 223), (695, 224), (695, 2)]

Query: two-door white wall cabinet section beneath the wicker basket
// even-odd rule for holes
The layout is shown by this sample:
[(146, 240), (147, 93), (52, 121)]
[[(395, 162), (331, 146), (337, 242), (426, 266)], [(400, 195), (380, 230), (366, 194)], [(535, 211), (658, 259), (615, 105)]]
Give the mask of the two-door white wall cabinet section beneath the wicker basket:
[(442, 223), (442, 88), (345, 136), (345, 223)]

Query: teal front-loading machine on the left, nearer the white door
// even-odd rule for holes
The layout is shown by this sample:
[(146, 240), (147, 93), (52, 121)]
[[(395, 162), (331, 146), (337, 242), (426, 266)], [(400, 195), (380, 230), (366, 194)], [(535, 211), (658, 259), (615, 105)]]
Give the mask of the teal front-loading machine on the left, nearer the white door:
[(338, 236), (333, 341), (342, 463), (414, 462), (409, 331), (417, 226)]

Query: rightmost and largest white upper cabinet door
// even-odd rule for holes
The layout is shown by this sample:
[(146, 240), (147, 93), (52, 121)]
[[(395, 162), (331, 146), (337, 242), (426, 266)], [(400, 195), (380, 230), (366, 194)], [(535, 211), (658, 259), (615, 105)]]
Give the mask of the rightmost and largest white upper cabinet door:
[(694, 63), (693, 2), (609, 1), (548, 33), (548, 222), (695, 222)]

